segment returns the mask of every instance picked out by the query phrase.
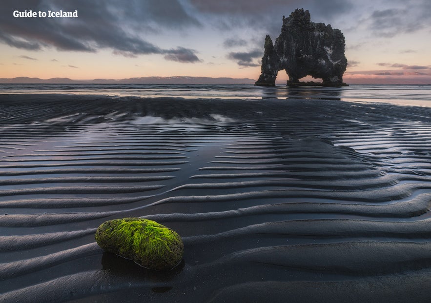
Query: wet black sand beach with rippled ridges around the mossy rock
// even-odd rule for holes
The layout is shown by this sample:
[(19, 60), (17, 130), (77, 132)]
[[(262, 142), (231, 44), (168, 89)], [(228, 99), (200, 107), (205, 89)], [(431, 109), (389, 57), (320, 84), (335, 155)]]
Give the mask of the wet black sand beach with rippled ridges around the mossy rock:
[[(429, 302), (431, 108), (0, 95), (0, 302)], [(167, 273), (96, 228), (156, 220)]]

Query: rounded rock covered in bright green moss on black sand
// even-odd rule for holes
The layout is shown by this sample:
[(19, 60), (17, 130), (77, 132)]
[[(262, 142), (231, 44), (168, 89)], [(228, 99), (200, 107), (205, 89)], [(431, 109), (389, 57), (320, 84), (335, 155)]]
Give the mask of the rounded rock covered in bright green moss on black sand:
[(175, 231), (141, 218), (103, 222), (96, 242), (105, 251), (155, 270), (170, 270), (183, 259), (184, 244)]

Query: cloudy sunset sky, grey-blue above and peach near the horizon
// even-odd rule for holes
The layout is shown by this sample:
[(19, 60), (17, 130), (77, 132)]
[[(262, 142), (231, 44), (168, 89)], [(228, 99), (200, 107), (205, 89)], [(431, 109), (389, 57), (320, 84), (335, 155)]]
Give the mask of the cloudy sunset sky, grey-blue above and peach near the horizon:
[(296, 8), (343, 32), (346, 82), (431, 84), (430, 0), (2, 0), (0, 78), (256, 80), (265, 36)]

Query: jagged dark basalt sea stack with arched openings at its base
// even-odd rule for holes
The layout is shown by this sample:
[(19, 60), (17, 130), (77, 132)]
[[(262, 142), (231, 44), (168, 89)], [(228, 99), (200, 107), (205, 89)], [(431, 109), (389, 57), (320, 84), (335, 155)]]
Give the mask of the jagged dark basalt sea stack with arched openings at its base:
[(305, 76), (321, 78), (324, 86), (343, 86), (347, 59), (345, 40), (339, 29), (329, 24), (314, 23), (308, 10), (296, 9), (283, 16), (280, 36), (272, 44), (265, 39), (262, 74), (254, 85), (274, 86), (277, 73), (286, 70), (287, 85), (298, 85)]

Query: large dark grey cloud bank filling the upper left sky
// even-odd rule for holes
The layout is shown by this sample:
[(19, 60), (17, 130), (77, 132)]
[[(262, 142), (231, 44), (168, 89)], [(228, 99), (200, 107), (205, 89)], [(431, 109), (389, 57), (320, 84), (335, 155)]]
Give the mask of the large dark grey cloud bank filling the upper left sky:
[[(139, 29), (200, 26), (198, 20), (186, 13), (179, 0), (3, 0), (1, 5), (0, 41), (27, 50), (55, 47), (62, 51), (96, 52), (110, 48), (115, 54), (125, 57), (170, 54), (171, 50), (161, 49), (140, 37)], [(68, 20), (13, 17), (14, 10), (29, 9), (78, 10), (79, 17)], [(184, 54), (185, 49), (179, 52)], [(190, 52), (193, 51), (189, 50), (191, 58)], [(176, 58), (187, 61), (181, 54)], [(196, 61), (190, 58), (188, 61)]]

